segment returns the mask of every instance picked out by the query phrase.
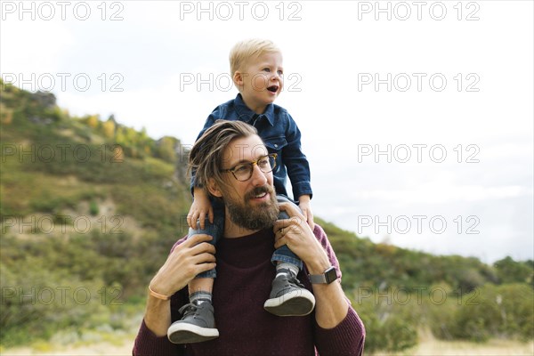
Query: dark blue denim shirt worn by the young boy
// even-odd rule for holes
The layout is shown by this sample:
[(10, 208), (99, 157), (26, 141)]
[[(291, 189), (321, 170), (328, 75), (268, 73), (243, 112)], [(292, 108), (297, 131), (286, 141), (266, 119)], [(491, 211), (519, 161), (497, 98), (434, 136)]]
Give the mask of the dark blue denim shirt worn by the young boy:
[[(301, 133), (286, 109), (269, 104), (263, 114), (258, 115), (248, 109), (239, 93), (235, 99), (214, 109), (207, 117), (206, 124), (198, 134), (197, 140), (218, 119), (240, 120), (255, 126), (269, 153), (278, 154), (273, 172), (274, 188), (277, 194), (284, 194), (288, 197), (286, 181), (289, 176), (295, 200), (302, 195), (310, 195), (312, 198), (310, 165), (301, 150)], [(191, 189), (193, 182), (194, 176), (191, 179)]]

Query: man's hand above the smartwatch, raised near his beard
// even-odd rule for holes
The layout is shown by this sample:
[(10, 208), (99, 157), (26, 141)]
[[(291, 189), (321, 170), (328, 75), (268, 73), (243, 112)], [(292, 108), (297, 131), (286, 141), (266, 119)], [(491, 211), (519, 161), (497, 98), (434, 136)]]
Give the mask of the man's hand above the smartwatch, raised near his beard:
[(274, 223), (274, 247), (287, 245), (299, 256), (312, 274), (320, 274), (330, 265), (328, 255), (320, 242), (313, 235), (312, 229), (306, 223), (306, 218), (300, 214), (296, 206), (281, 203), (280, 210), (284, 210), (289, 219), (277, 220)]

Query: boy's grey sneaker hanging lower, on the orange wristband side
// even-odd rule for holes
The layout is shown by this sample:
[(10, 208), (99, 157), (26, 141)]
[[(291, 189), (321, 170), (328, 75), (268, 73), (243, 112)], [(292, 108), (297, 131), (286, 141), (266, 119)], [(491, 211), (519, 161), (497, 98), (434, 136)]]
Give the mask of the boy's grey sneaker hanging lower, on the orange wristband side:
[(209, 302), (189, 303), (180, 308), (182, 320), (174, 321), (167, 330), (169, 341), (174, 344), (191, 344), (219, 337), (215, 328), (214, 307)]

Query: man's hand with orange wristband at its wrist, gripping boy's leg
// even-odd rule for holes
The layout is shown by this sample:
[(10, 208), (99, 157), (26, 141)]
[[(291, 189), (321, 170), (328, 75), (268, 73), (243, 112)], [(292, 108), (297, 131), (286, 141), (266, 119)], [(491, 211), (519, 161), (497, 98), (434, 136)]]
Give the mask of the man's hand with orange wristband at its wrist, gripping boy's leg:
[(206, 242), (211, 239), (197, 234), (175, 247), (150, 281), (150, 288), (160, 295), (174, 295), (198, 273), (215, 268), (215, 247)]

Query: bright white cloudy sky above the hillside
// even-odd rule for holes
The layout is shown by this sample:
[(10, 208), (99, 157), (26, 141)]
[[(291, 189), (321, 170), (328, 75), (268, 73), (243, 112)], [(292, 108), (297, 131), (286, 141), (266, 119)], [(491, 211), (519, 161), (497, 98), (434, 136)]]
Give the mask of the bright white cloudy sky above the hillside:
[(2, 1), (0, 74), (194, 143), (269, 38), (316, 216), (437, 255), (534, 258), (531, 1)]

